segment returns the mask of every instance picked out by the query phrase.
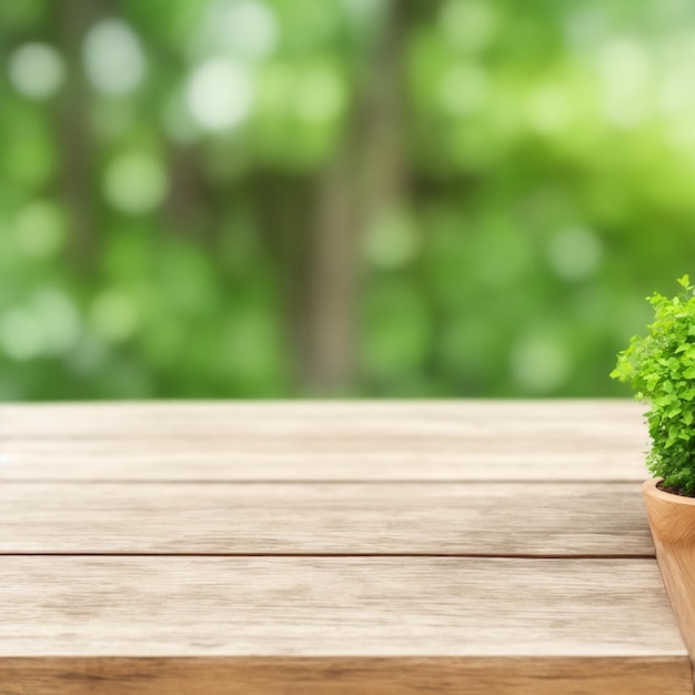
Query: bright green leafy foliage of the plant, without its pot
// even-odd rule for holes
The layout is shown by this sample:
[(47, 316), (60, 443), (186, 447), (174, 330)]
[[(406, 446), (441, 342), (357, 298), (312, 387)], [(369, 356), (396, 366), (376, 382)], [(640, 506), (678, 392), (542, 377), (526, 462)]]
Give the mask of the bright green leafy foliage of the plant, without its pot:
[(635, 335), (617, 356), (613, 379), (627, 382), (635, 397), (651, 405), (646, 413), (652, 437), (651, 473), (663, 487), (695, 496), (695, 288), (688, 275), (683, 292), (668, 299), (647, 298), (655, 321), (647, 335)]

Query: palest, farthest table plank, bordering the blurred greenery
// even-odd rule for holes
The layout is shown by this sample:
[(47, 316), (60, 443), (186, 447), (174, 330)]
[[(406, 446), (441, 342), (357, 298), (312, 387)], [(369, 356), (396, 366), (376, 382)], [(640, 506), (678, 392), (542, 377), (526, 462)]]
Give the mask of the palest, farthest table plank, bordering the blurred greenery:
[(632, 481), (626, 401), (0, 406), (0, 481)]

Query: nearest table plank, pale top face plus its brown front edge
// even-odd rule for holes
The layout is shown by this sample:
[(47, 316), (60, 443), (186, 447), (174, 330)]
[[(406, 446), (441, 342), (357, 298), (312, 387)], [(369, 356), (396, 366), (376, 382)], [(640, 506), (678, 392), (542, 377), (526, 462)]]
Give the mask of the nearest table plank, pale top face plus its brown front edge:
[(649, 561), (9, 557), (1, 576), (3, 693), (692, 692)]

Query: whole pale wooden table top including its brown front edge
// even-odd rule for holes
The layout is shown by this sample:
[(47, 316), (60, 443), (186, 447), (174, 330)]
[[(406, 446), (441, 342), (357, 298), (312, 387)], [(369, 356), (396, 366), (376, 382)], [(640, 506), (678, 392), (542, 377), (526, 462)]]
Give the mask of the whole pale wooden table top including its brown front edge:
[(692, 695), (643, 410), (0, 405), (0, 695)]

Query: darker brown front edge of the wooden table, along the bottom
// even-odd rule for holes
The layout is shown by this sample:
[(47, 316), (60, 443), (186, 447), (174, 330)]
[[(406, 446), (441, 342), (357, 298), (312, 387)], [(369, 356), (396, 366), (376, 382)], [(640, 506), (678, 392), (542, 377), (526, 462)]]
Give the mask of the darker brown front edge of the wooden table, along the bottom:
[(2, 695), (692, 695), (673, 657), (0, 658)]

